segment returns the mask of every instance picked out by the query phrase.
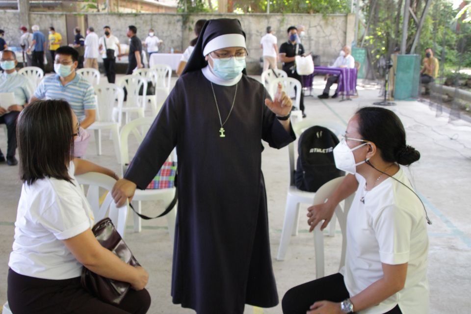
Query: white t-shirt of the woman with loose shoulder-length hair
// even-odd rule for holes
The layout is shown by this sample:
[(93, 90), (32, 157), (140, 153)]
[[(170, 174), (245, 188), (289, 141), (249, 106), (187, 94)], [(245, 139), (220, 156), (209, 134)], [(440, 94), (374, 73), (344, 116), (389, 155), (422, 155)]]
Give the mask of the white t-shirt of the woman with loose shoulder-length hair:
[(62, 240), (91, 228), (94, 217), (74, 172), (71, 162), (74, 184), (51, 178), (23, 183), (8, 262), (18, 274), (52, 280), (80, 276), (82, 264)]

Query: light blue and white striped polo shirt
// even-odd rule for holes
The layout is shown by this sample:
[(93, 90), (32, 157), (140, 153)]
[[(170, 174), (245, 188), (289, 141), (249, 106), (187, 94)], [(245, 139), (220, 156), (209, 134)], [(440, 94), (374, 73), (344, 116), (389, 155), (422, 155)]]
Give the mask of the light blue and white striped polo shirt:
[(95, 91), (92, 85), (77, 73), (65, 86), (62, 85), (58, 74), (45, 77), (34, 92), (34, 97), (67, 101), (79, 121), (85, 118), (85, 110), (96, 109)]

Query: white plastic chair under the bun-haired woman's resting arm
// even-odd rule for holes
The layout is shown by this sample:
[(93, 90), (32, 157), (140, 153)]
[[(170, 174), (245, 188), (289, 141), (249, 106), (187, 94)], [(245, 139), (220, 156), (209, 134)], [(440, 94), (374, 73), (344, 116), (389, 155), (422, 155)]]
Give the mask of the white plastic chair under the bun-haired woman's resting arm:
[[(334, 193), (340, 183), (343, 181), (345, 177), (335, 178), (331, 181), (325, 183), (317, 192), (315, 192), (314, 196), (314, 203), (313, 205), (323, 204), (327, 201), (327, 199)], [(345, 264), (345, 252), (347, 248), (347, 237), (346, 237), (346, 229), (347, 229), (347, 215), (348, 210), (352, 205), (353, 199), (355, 198), (355, 193), (352, 193), (348, 196), (343, 202), (343, 208), (339, 204), (335, 208), (335, 216), (332, 217), (334, 219), (337, 216), (339, 220), (340, 230), (342, 232), (342, 253), (340, 256), (340, 268), (343, 267)], [(335, 221), (335, 220), (334, 220)], [(324, 234), (320, 231), (320, 226), (322, 223), (318, 223), (317, 226), (314, 228), (314, 250), (315, 250), (315, 277), (322, 278), (324, 277)]]

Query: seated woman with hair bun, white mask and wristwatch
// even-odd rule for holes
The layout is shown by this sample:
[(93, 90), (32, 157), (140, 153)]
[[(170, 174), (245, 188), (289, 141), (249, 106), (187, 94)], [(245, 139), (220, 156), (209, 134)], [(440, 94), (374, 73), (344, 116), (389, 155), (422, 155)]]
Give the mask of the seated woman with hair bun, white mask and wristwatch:
[(310, 231), (318, 223), (324, 229), (337, 204), (356, 192), (347, 217), (345, 266), (288, 290), (283, 313), (428, 313), (429, 219), (399, 166), (419, 157), (391, 110), (356, 112), (334, 149), (336, 166), (350, 174), (327, 203), (308, 209)]

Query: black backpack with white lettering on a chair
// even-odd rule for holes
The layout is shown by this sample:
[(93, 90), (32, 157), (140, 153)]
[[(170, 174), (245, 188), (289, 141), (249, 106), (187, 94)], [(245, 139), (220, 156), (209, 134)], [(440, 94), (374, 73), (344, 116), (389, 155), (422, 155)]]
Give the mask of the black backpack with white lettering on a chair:
[(324, 127), (314, 126), (304, 131), (298, 140), (298, 161), (294, 183), (302, 191), (315, 192), (322, 184), (344, 176), (335, 167), (334, 147), (337, 136)]

